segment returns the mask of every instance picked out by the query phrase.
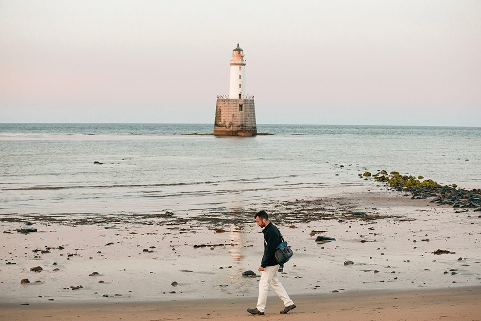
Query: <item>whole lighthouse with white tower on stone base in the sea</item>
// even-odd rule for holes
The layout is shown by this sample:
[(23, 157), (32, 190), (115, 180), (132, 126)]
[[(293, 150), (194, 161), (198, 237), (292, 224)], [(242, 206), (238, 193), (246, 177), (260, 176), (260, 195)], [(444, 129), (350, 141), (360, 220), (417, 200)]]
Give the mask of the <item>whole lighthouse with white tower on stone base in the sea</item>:
[(229, 94), (217, 96), (214, 135), (257, 135), (254, 96), (246, 94), (246, 61), (239, 44), (230, 59)]

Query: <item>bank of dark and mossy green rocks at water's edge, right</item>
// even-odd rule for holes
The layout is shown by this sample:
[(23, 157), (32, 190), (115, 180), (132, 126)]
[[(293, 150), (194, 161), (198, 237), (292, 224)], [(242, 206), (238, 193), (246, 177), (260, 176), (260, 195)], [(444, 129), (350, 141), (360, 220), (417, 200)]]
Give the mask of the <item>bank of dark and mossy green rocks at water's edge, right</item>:
[(440, 185), (433, 180), (423, 180), (422, 176), (415, 178), (399, 172), (391, 172), (389, 175), (386, 171), (374, 175), (365, 172), (359, 174), (359, 177), (389, 184), (393, 190), (412, 194), (412, 199), (432, 198), (431, 203), (453, 208), (474, 208), (475, 212), (481, 212), (481, 189), (458, 189), (456, 184)]

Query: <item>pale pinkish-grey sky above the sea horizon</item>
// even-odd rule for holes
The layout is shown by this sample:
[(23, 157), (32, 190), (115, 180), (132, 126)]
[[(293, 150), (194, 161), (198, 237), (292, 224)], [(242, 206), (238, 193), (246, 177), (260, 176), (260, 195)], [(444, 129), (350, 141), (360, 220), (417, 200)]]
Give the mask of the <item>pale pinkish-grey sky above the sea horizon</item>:
[(481, 126), (481, 1), (0, 0), (0, 122)]

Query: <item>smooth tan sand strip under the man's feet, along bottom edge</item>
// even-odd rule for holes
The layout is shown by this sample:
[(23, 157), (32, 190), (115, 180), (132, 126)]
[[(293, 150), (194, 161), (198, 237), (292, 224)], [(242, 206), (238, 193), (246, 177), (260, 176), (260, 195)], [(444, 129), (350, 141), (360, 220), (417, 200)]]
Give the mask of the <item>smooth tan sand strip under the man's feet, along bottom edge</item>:
[(277, 297), (269, 297), (266, 315), (246, 311), (256, 298), (203, 299), (168, 302), (91, 302), (2, 305), (2, 320), (479, 320), (481, 286), (442, 290), (353, 291), (293, 295), (298, 307), (288, 314)]

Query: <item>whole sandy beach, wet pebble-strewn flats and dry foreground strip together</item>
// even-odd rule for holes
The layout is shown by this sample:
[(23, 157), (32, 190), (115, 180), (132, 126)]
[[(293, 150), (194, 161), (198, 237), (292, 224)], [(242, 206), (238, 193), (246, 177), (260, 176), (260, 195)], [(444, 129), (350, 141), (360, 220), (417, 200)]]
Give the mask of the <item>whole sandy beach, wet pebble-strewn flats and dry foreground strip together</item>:
[[(294, 249), (281, 275), (302, 302), (292, 317), (480, 318), (474, 304), (481, 285), (477, 212), (456, 213), (374, 189), (266, 209)], [(0, 233), (0, 318), (251, 317), (244, 312), (256, 302), (259, 278), (242, 272), (257, 271), (263, 246), (250, 211), (76, 222), (3, 217), (2, 232), (10, 233)], [(365, 215), (353, 214), (358, 211)], [(27, 219), (34, 224), (26, 226)], [(17, 233), (26, 227), (38, 232)], [(316, 243), (318, 235), (336, 241)], [(438, 249), (453, 253), (434, 254)], [(354, 264), (344, 265), (347, 260)], [(43, 270), (30, 271), (35, 266)], [(24, 278), (31, 283), (20, 284)], [(268, 313), (279, 312), (278, 301), (269, 299)]]

